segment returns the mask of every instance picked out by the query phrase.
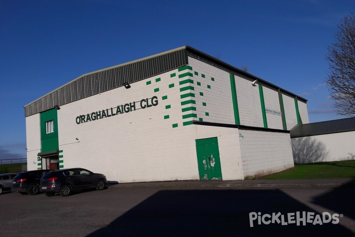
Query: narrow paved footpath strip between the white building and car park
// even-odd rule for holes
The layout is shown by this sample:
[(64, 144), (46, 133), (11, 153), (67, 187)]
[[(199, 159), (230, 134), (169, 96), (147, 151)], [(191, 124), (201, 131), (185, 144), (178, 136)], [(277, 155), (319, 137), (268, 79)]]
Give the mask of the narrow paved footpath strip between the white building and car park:
[(317, 179), (249, 179), (233, 181), (163, 181), (163, 182), (139, 182), (139, 183), (115, 183), (107, 182), (111, 188), (167, 188), (167, 187), (204, 187), (204, 188), (286, 188), (286, 187), (339, 187), (353, 183), (353, 178), (317, 178)]

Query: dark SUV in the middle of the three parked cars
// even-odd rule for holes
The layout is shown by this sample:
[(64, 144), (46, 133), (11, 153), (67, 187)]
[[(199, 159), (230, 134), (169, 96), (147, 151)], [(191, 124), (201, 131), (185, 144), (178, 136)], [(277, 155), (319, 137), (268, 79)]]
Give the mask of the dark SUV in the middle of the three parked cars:
[(32, 170), (18, 173), (12, 179), (12, 192), (36, 195), (39, 193), (40, 178), (51, 169)]

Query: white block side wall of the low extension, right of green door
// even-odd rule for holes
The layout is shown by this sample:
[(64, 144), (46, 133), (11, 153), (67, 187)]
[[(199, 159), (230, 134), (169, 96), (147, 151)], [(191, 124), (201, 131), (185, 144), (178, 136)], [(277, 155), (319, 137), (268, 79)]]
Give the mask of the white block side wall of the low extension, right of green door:
[(239, 134), (245, 178), (294, 167), (289, 133), (239, 129)]

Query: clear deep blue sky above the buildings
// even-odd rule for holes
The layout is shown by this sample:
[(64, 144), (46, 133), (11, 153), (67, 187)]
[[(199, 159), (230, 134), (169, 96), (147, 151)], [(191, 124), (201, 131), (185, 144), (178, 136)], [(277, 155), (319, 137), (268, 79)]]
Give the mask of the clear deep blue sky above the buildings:
[(354, 0), (0, 1), (0, 159), (26, 158), (23, 106), (87, 72), (190, 45), (344, 118), (324, 85), (327, 45)]

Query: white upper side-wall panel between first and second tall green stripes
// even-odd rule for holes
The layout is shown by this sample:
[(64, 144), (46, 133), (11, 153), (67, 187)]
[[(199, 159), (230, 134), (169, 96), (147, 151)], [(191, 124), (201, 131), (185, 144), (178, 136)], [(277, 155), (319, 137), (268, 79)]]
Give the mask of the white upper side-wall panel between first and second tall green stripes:
[(241, 125), (264, 127), (259, 86), (234, 75)]

